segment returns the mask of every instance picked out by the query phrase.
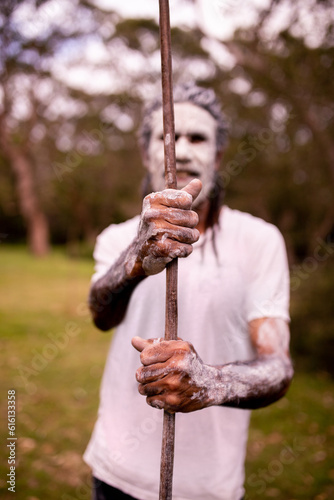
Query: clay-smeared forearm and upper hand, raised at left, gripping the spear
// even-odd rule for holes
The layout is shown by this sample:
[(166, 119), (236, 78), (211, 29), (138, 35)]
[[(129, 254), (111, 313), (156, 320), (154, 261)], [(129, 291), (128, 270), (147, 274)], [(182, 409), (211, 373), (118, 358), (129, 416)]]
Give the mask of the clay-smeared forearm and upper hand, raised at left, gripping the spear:
[(175, 257), (190, 255), (199, 238), (198, 215), (191, 205), (201, 188), (195, 179), (182, 190), (167, 189), (145, 198), (137, 237), (91, 287), (89, 305), (98, 328), (106, 331), (122, 321), (141, 280), (163, 271)]

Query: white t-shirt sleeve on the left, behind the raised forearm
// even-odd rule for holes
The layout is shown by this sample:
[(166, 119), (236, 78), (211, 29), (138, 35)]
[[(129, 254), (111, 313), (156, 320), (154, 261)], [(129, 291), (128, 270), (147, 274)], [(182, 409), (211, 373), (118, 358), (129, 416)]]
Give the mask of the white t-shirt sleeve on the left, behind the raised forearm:
[(92, 283), (102, 278), (131, 244), (137, 234), (139, 218), (121, 224), (112, 224), (97, 237), (93, 257), (95, 260)]

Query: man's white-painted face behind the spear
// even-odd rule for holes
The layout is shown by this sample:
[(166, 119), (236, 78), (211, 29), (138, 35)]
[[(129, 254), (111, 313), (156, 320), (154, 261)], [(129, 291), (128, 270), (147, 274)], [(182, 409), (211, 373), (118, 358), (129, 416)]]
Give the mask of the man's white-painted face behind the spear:
[[(198, 206), (208, 196), (216, 170), (216, 120), (189, 102), (176, 103), (174, 115), (177, 187), (182, 189), (192, 179), (200, 179), (203, 189), (194, 203)], [(162, 109), (152, 116), (147, 168), (153, 190), (165, 189)]]

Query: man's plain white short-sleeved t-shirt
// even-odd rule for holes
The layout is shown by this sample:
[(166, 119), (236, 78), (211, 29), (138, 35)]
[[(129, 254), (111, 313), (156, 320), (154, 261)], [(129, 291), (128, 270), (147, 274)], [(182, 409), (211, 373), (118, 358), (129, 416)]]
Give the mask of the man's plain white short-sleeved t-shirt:
[[(97, 239), (96, 274), (103, 276), (137, 234), (139, 217), (112, 225)], [(289, 321), (289, 272), (278, 229), (224, 206), (215, 230), (179, 259), (178, 336), (204, 363), (249, 361), (247, 324), (261, 317)], [(103, 375), (100, 407), (84, 459), (102, 481), (140, 500), (159, 497), (162, 412), (138, 393), (140, 366), (131, 338), (163, 337), (165, 272), (135, 288), (115, 331)], [(240, 500), (250, 412), (210, 407), (176, 415), (174, 500)]]

